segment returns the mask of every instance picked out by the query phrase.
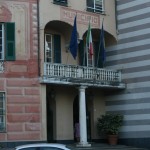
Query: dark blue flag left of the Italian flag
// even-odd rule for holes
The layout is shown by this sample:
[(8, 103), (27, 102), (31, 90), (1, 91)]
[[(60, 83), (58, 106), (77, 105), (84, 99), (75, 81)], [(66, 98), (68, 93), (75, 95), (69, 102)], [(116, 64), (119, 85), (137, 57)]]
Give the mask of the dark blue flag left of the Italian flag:
[(77, 41), (77, 23), (76, 23), (76, 16), (74, 18), (74, 26), (72, 30), (71, 40), (69, 49), (74, 59), (76, 59), (77, 56), (77, 48), (78, 48), (78, 41)]

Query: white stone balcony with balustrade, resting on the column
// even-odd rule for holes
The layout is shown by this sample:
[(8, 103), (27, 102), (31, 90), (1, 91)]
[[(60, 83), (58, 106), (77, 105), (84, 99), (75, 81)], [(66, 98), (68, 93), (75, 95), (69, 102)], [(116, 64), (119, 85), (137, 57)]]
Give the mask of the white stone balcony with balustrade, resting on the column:
[(53, 63), (44, 63), (41, 82), (124, 87), (124, 84), (121, 83), (121, 71)]

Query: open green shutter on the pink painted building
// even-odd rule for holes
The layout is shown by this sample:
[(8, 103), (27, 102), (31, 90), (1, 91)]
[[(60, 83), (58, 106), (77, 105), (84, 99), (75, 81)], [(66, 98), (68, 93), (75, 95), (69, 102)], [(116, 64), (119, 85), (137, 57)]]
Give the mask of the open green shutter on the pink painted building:
[(5, 59), (15, 60), (15, 23), (5, 23)]

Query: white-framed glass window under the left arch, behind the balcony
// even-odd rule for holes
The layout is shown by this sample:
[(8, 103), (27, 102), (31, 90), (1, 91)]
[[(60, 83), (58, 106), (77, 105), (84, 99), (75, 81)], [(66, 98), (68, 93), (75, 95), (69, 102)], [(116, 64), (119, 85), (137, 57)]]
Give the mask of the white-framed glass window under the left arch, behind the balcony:
[[(47, 36), (50, 36), (51, 41), (48, 41)], [(49, 34), (49, 33), (45, 34), (45, 52), (44, 53), (45, 53), (44, 61), (52, 63), (54, 60), (54, 57), (53, 57), (53, 55), (54, 55), (53, 54), (53, 35), (52, 34)]]

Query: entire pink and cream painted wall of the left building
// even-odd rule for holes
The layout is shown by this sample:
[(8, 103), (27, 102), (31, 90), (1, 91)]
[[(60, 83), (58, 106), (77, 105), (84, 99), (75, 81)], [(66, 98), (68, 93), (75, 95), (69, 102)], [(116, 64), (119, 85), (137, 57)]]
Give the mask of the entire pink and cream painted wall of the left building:
[(16, 60), (4, 62), (0, 91), (6, 93), (6, 133), (0, 141), (45, 139), (41, 133), (36, 0), (0, 0), (0, 21), (15, 22)]

